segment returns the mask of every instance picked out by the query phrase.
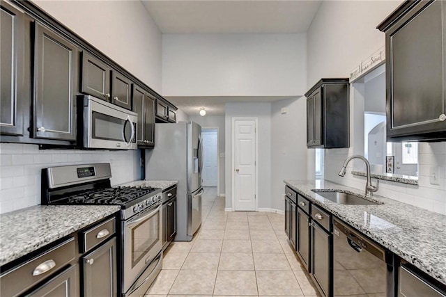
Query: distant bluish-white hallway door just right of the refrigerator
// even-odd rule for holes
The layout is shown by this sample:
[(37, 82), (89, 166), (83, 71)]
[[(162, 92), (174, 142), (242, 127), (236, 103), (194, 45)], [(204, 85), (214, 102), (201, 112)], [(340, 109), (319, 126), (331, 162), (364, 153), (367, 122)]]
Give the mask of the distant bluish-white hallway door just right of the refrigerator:
[(217, 130), (203, 129), (201, 130), (201, 138), (203, 139), (203, 186), (217, 186)]

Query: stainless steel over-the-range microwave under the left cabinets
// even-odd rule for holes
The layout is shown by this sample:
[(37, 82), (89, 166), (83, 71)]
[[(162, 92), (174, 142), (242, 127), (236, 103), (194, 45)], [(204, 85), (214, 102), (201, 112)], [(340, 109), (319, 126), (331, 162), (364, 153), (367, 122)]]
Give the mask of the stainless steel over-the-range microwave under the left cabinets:
[(78, 109), (78, 140), (82, 147), (137, 149), (137, 113), (90, 95), (79, 97)]

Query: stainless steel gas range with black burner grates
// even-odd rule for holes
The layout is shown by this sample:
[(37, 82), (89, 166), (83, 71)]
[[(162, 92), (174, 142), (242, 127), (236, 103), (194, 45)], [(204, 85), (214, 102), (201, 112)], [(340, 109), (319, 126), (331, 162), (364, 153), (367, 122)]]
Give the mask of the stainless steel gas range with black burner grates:
[(118, 289), (144, 296), (162, 268), (161, 188), (110, 185), (109, 163), (42, 170), (42, 204), (121, 206), (118, 221)]

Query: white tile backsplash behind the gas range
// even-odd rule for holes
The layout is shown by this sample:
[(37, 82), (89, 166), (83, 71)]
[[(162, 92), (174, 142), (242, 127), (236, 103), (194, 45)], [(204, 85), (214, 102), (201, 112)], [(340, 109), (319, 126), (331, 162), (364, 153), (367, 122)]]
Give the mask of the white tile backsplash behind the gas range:
[(0, 143), (0, 214), (40, 204), (42, 168), (110, 163), (112, 185), (140, 179), (139, 151), (39, 150), (38, 145)]

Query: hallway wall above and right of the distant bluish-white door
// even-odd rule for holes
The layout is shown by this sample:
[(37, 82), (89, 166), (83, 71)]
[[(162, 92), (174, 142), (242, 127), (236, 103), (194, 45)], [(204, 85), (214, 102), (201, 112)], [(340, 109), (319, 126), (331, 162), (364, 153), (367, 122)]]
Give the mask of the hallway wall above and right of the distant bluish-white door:
[(219, 141), (219, 150), (220, 156), (218, 156), (218, 188), (220, 193), (217, 193), (219, 196), (224, 196), (225, 193), (225, 184), (224, 184), (224, 175), (225, 175), (225, 123), (224, 123), (224, 115), (191, 115), (190, 120), (193, 122), (197, 122), (202, 128), (215, 128), (218, 127), (218, 141)]

